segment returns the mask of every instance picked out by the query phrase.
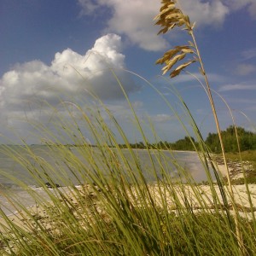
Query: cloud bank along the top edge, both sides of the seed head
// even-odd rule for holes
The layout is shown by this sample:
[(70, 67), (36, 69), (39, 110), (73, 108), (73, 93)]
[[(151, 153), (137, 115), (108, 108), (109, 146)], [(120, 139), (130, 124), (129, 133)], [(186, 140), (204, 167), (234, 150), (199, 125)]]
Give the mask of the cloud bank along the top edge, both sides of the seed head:
[[(78, 0), (83, 15), (102, 15), (108, 9), (105, 30), (125, 35), (132, 44), (140, 48), (157, 51), (166, 49), (168, 43), (157, 36), (158, 26), (154, 26), (154, 16), (160, 9), (160, 0)], [(256, 19), (255, 0), (180, 0), (182, 8), (197, 27), (220, 27), (227, 15), (246, 8)]]

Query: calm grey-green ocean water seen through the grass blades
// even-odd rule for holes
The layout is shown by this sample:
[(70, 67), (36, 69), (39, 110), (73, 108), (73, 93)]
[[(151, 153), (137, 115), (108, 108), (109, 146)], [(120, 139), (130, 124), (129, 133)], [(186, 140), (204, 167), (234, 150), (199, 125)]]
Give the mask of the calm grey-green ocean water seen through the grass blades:
[[(86, 175), (84, 176), (84, 174), (81, 174), (80, 166), (71, 166), (68, 159), (74, 156), (81, 160), (83, 165), (90, 166), (89, 160), (86, 160), (81, 153), (80, 148), (76, 147), (67, 148), (67, 156), (64, 158), (63, 154), (59, 154), (59, 151), (56, 150), (56, 148), (49, 148), (44, 145), (32, 145), (29, 146), (29, 148), (9, 146), (9, 149), (12, 150), (11, 155), (4, 153), (3, 146), (0, 146), (0, 207), (7, 215), (16, 212), (16, 208), (12, 205), (11, 201), (9, 201), (9, 198), (13, 198), (16, 201), (21, 202), (26, 207), (31, 207), (38, 203), (31, 195), (29, 195), (29, 193), (27, 193), (26, 189), (22, 189), (22, 183), (26, 183), (32, 191), (42, 195), (42, 198), (45, 199), (47, 197), (44, 189), (42, 189), (37, 181), (38, 176), (40, 176), (40, 172), (42, 172), (42, 174), (44, 172), (52, 173), (50, 178), (54, 183), (59, 184), (60, 186), (64, 186), (62, 182), (63, 177), (65, 181), (68, 181), (68, 183), (65, 183), (65, 186), (77, 186), (84, 183), (84, 177)], [(36, 160), (29, 156), (29, 150), (37, 155)], [(100, 156), (101, 154), (99, 150), (97, 148), (92, 148), (91, 150), (94, 150), (93, 155), (96, 160), (95, 164), (104, 170), (106, 165), (104, 165), (104, 161)], [(115, 149), (113, 149), (113, 152), (114, 150)], [(129, 150), (122, 150), (125, 159), (128, 160), (131, 168), (132, 166), (135, 168), (135, 164), (132, 161)], [(13, 153), (17, 153), (15, 158), (15, 154)], [(149, 160), (147, 150), (134, 149), (134, 153), (137, 155), (139, 165), (141, 166), (148, 183), (154, 182), (155, 179), (152, 172), (150, 172), (153, 168), (152, 165), (154, 165), (154, 169), (159, 173), (160, 177), (162, 167), (160, 166), (159, 161), (162, 162), (162, 166), (168, 173), (170, 173), (171, 177), (175, 177), (177, 175), (176, 165), (178, 164), (179, 166), (183, 166), (183, 169), (186, 170), (186, 172), (190, 172), (196, 182), (207, 180), (207, 175), (204, 172), (201, 160), (195, 152), (175, 151), (170, 154), (169, 151), (158, 152), (153, 150), (151, 153), (153, 162)], [(20, 160), (23, 166), (20, 165)], [(120, 162), (122, 162), (122, 160), (120, 160)], [(30, 166), (29, 172), (26, 164), (27, 166)], [(41, 170), (36, 176), (32, 175), (33, 166)], [(74, 171), (76, 168), (77, 170), (80, 170), (78, 173)], [(90, 170), (90, 168), (88, 168), (88, 170)], [(88, 170), (86, 172), (90, 172)], [(21, 185), (19, 182), (21, 182)], [(48, 181), (45, 179), (45, 183), (46, 182)]]

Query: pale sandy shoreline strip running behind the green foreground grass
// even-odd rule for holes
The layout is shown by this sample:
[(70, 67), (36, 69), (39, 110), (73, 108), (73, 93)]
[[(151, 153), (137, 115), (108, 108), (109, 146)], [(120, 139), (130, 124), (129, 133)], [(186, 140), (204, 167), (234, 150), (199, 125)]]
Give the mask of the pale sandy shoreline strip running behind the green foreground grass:
[[(164, 184), (160, 186), (157, 184), (148, 185), (148, 192), (151, 195), (151, 200), (154, 201), (154, 207), (158, 211), (161, 212), (161, 209), (165, 209), (167, 213), (174, 214), (177, 217), (180, 216), (177, 213), (180, 211), (190, 214), (193, 212), (195, 216), (201, 213), (214, 214), (216, 211), (226, 214), (218, 185), (213, 185), (213, 187), (219, 199), (217, 206), (214, 205), (212, 189), (209, 185), (173, 185), (172, 189), (176, 191), (177, 197), (172, 197), (171, 191), (171, 194), (166, 194), (166, 189), (170, 189), (170, 187), (168, 185), (166, 187)], [(256, 213), (256, 184), (248, 184), (252, 207), (248, 200), (246, 185), (233, 185), (232, 187), (239, 216), (251, 222), (253, 215), (255, 216)], [(233, 200), (230, 199), (227, 186), (224, 186), (224, 190), (228, 199), (228, 211), (231, 215), (234, 215), (235, 212), (233, 212), (231, 204)], [(113, 193), (115, 192), (113, 191)], [(137, 194), (137, 186), (131, 187), (126, 193), (128, 193), (130, 204), (135, 207), (134, 210), (145, 207), (147, 203), (150, 206), (151, 201), (145, 201), (144, 195)], [(21, 236), (25, 234), (24, 232), (30, 234), (29, 236), (43, 232), (44, 236), (56, 237), (61, 235), (61, 227), (66, 227), (66, 225), (71, 224), (78, 229), (88, 230), (90, 229), (90, 224), (93, 224), (98, 218), (110, 223), (112, 215), (108, 215), (106, 211), (108, 207), (106, 207), (106, 201), (102, 195), (101, 189), (96, 186), (81, 185), (75, 189), (69, 188), (69, 190), (65, 191), (64, 196), (61, 195), (55, 202), (44, 201), (44, 203), (26, 208), (26, 210), (23, 209), (6, 218), (0, 218), (2, 239), (9, 241), (9, 247), (12, 252), (15, 252), (17, 249), (15, 240), (10, 240), (9, 237), (17, 236), (17, 232)], [(115, 195), (113, 194), (114, 197)], [(177, 201), (180, 203), (177, 203)], [(190, 210), (187, 208), (188, 204)], [(181, 207), (183, 210), (181, 210)], [(119, 211), (119, 209), (115, 211)], [(113, 214), (116, 213), (113, 212)], [(63, 222), (62, 219), (65, 219), (65, 221)], [(74, 221), (73, 224), (70, 221)], [(6, 244), (2, 244), (0, 252), (10, 253), (9, 247)]]

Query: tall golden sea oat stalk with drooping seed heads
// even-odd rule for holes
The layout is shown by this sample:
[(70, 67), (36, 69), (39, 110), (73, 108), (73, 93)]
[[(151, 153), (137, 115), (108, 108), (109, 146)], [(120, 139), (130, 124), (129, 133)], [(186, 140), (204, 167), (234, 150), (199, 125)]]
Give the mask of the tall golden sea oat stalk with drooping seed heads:
[[(226, 178), (230, 190), (230, 197), (231, 197), (231, 204), (233, 206), (233, 211), (235, 212), (235, 224), (236, 224), (236, 240), (238, 242), (238, 245), (240, 247), (241, 254), (246, 254), (244, 245), (243, 245), (243, 238), (241, 236), (241, 230), (240, 225), (238, 223), (239, 213), (236, 210), (236, 202), (234, 201), (234, 191), (231, 185), (231, 178), (230, 178), (230, 169), (227, 164), (226, 155), (225, 155), (225, 148), (224, 148), (224, 141), (223, 137), (220, 131), (220, 125), (218, 121), (218, 114), (216, 111), (215, 103), (213, 101), (212, 97), (212, 89), (210, 87), (207, 73), (201, 58), (201, 52), (197, 46), (196, 40), (195, 40), (195, 23), (191, 24), (189, 20), (189, 16), (185, 15), (183, 13), (183, 9), (181, 8), (180, 4), (176, 0), (163, 0), (160, 8), (160, 14), (155, 17), (156, 24), (160, 25), (162, 28), (159, 33), (166, 33), (170, 30), (172, 30), (176, 26), (183, 27), (183, 30), (188, 32), (189, 37), (191, 38), (192, 42), (189, 41), (188, 45), (182, 45), (182, 46), (176, 46), (174, 49), (171, 49), (166, 52), (166, 54), (160, 58), (156, 63), (157, 64), (164, 64), (165, 67), (162, 68), (163, 73), (171, 72), (170, 76), (171, 78), (176, 77), (179, 73), (183, 71), (186, 67), (189, 67), (192, 63), (198, 62), (199, 63), (199, 69), (201, 72), (201, 75), (204, 79), (204, 86), (207, 91), (207, 96), (212, 108), (212, 115), (215, 120), (216, 129), (218, 131), (218, 138), (219, 143), (221, 146), (221, 152), (224, 160), (224, 166), (226, 169)], [(183, 64), (179, 65), (178, 67), (175, 67), (177, 62), (182, 61), (187, 55), (194, 55), (194, 59), (189, 59), (189, 61), (184, 62)], [(239, 145), (238, 145), (239, 147)], [(220, 184), (220, 183), (219, 183)], [(228, 213), (228, 212), (227, 212)], [(254, 219), (255, 220), (255, 219)]]

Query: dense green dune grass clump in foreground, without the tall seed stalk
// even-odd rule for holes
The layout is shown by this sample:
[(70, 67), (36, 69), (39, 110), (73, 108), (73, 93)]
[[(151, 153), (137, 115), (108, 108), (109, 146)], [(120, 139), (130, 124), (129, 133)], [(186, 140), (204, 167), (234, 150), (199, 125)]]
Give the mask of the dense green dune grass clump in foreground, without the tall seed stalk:
[[(54, 150), (55, 155), (62, 156), (59, 161), (67, 160), (58, 170), (40, 162), (44, 172), (40, 168), (31, 171), (30, 162), (19, 158), (32, 177), (40, 176), (38, 183), (48, 198), (40, 198), (23, 184), (40, 207), (16, 205), (17, 209), (21, 207), (21, 226), (1, 212), (5, 220), (0, 235), (3, 255), (240, 255), (231, 208), (225, 209), (221, 197), (208, 199), (212, 192), (206, 196), (201, 186), (191, 183), (191, 177), (183, 177), (186, 183), (172, 181), (164, 169), (161, 176), (155, 173), (154, 183), (148, 183), (136, 149), (122, 150), (113, 139), (110, 147), (107, 126), (103, 134), (102, 126), (92, 128), (101, 142), (97, 147), (84, 141), (74, 153), (59, 143), (45, 146), (48, 152)], [(108, 133), (109, 137), (113, 135)], [(29, 148), (24, 148), (26, 153), (38, 159)], [(164, 166), (160, 148), (149, 152), (159, 155), (157, 164)], [(66, 165), (77, 176), (74, 183), (79, 186), (72, 186), (66, 179)], [(154, 175), (154, 165), (151, 172)], [(56, 177), (64, 187), (54, 187)], [(54, 189), (45, 185), (47, 180)], [(211, 179), (209, 182), (217, 189)], [(247, 255), (253, 255), (253, 222), (249, 217), (239, 218), (239, 225), (244, 249)]]

